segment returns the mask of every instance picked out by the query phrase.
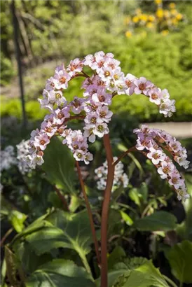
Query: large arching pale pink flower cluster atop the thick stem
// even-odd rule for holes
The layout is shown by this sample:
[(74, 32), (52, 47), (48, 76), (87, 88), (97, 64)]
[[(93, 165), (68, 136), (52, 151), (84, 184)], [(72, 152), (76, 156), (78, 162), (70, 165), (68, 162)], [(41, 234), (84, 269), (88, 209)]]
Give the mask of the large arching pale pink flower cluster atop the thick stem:
[[(109, 105), (116, 94), (142, 93), (160, 106), (160, 113), (171, 116), (175, 111), (174, 100), (170, 101), (167, 90), (161, 91), (143, 77), (138, 79), (130, 73), (125, 76), (119, 65), (112, 53), (96, 52), (83, 60), (74, 59), (66, 68), (62, 64), (55, 69), (54, 76), (46, 82), (43, 99), (39, 99), (41, 108), (48, 109), (50, 114), (44, 118), (41, 129), (31, 134), (29, 155), (25, 156), (29, 167), (43, 164), (43, 152), (54, 135), (64, 138), (62, 143), (69, 146), (76, 160), (88, 164), (92, 160), (88, 141), (93, 143), (96, 136), (102, 138), (109, 133), (108, 124), (113, 115)], [(90, 67), (92, 76), (83, 71), (84, 66)], [(79, 76), (85, 77), (83, 97), (74, 97), (69, 102), (64, 97), (64, 90), (70, 80)], [(83, 132), (67, 128), (67, 122), (73, 118), (83, 118)]]

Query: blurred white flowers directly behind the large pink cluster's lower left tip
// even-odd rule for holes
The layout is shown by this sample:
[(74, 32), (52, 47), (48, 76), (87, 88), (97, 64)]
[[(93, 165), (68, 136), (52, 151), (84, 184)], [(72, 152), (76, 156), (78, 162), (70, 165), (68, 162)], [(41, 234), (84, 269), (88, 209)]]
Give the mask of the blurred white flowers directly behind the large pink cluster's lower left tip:
[(16, 145), (17, 147), (17, 159), (18, 159), (18, 169), (22, 174), (27, 174), (30, 171), (29, 165), (23, 160), (26, 155), (29, 153), (29, 140), (25, 141), (24, 139), (20, 144)]

